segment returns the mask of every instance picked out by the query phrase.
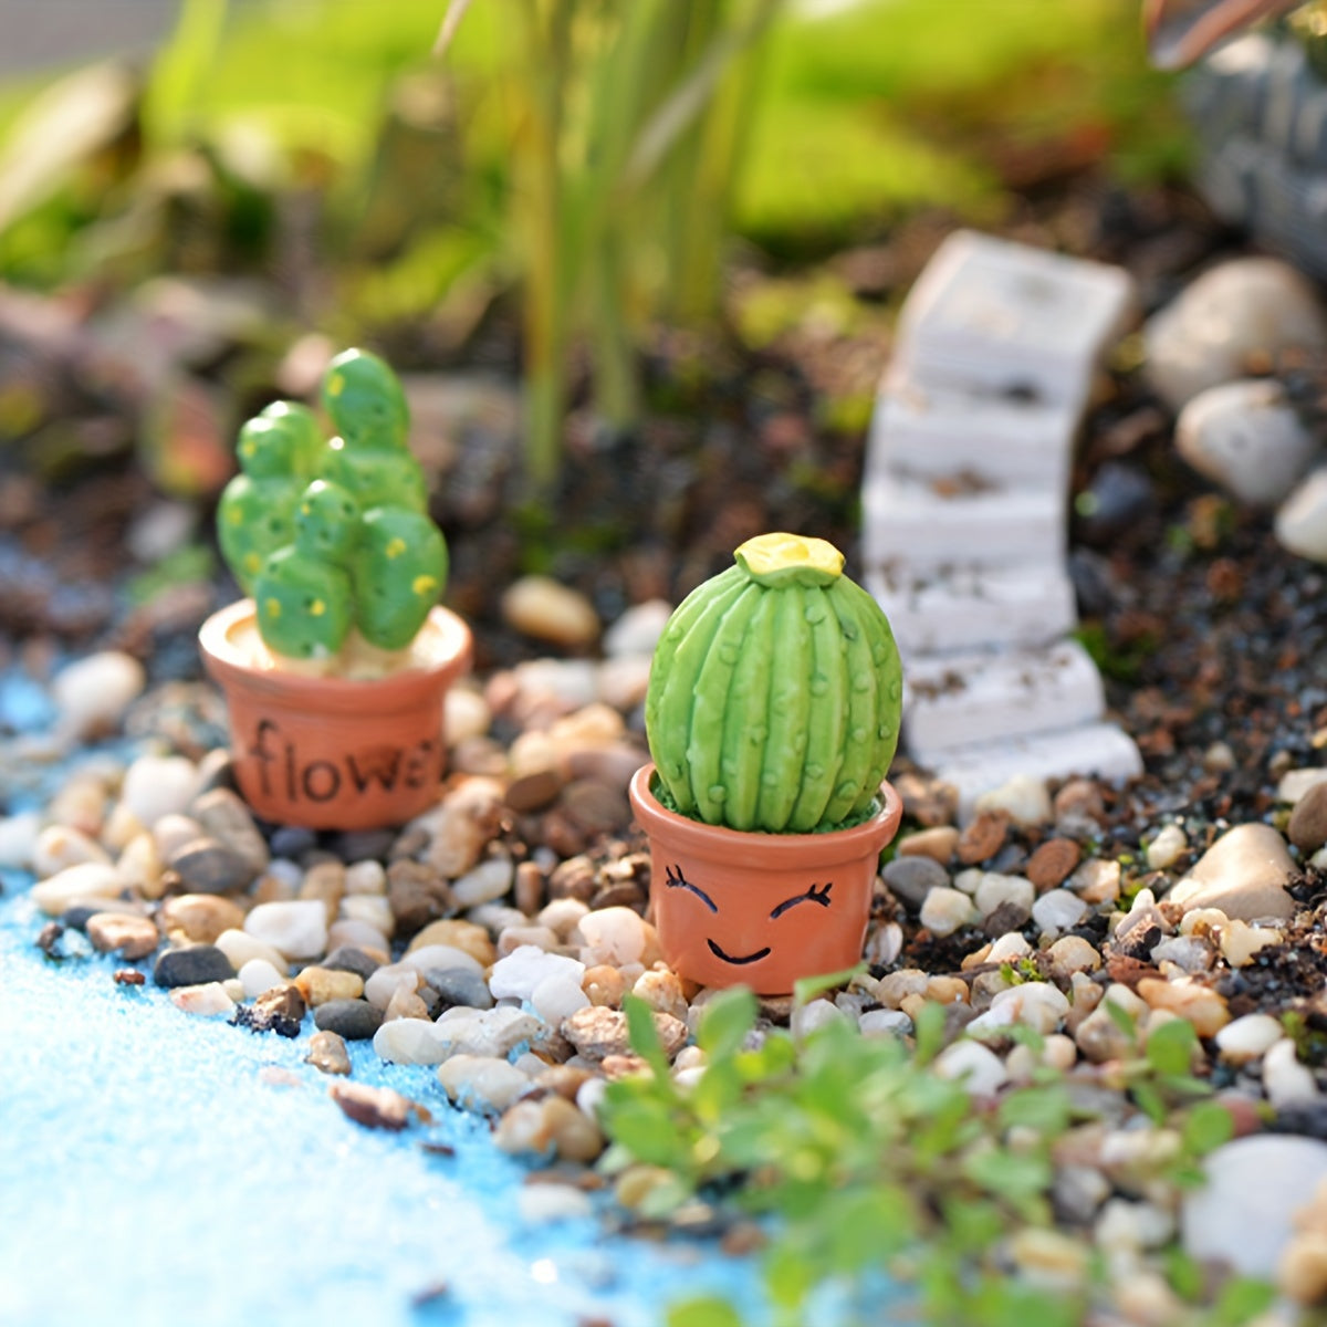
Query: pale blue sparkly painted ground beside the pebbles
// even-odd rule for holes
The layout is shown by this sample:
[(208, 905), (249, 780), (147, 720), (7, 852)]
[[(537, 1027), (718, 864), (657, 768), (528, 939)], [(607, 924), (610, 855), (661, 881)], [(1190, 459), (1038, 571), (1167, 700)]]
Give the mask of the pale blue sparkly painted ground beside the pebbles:
[[(11, 730), (46, 721), (4, 682)], [(304, 1063), (311, 1019), (295, 1040), (255, 1035), (115, 986), (110, 958), (52, 963), (25, 881), (0, 884), (0, 1327), (646, 1327), (699, 1290), (752, 1302), (755, 1267), (710, 1249), (524, 1227), (525, 1168), (431, 1068), (353, 1046), (356, 1082), (437, 1121), (365, 1129)]]

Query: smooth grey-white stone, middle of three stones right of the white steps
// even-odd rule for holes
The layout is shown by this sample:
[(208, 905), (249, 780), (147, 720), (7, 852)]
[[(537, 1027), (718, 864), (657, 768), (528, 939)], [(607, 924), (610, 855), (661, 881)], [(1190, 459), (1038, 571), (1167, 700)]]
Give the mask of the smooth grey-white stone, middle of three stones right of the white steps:
[(1274, 507), (1303, 478), (1318, 450), (1285, 387), (1270, 378), (1222, 382), (1180, 413), (1176, 450), (1237, 502)]

